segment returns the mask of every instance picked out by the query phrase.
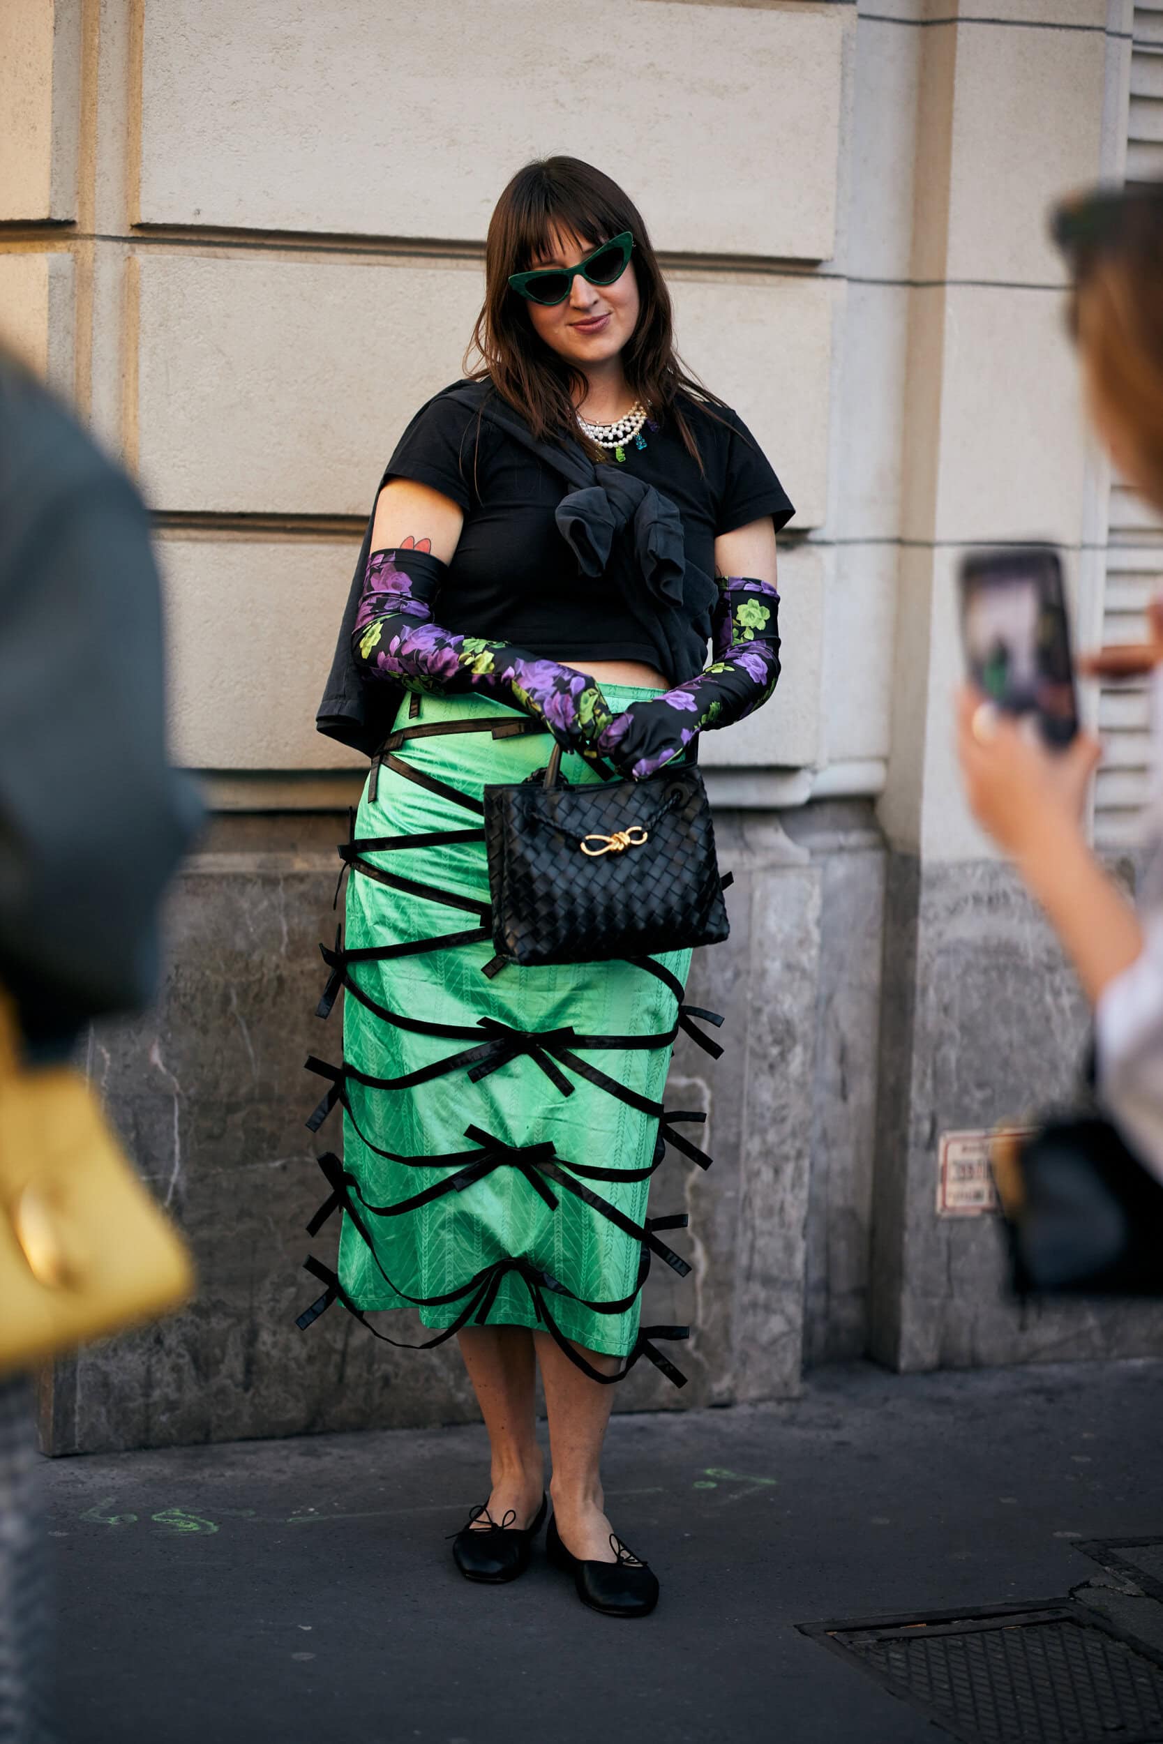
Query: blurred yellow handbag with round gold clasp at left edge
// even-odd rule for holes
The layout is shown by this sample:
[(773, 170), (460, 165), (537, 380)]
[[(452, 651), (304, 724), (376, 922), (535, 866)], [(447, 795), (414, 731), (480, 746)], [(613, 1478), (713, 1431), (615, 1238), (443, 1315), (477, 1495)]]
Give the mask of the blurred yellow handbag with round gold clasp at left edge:
[(0, 1374), (181, 1308), (185, 1242), (87, 1080), (26, 1067), (0, 994)]

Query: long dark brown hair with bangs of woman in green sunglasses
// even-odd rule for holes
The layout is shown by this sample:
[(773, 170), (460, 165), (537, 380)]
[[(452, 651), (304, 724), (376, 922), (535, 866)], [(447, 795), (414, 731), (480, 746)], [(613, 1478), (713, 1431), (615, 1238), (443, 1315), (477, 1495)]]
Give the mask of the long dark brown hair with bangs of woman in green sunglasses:
[[(622, 351), (626, 382), (650, 417), (673, 420), (701, 467), (680, 396), (687, 394), (708, 410), (722, 406), (722, 399), (687, 371), (675, 351), (670, 291), (642, 213), (616, 181), (577, 157), (542, 157), (525, 164), (497, 201), (485, 244), (485, 303), (473, 328), (464, 370), (474, 382), (492, 382), (539, 441), (572, 436), (595, 460), (609, 460), (577, 427), (574, 396), (584, 394), (584, 373), (544, 344), (530, 323), (525, 298), (509, 286), (509, 274), (544, 260), (563, 232), (596, 248), (622, 230), (635, 237), (629, 265), (642, 302), (638, 326)], [(474, 358), (479, 359), (478, 368), (471, 368)]]

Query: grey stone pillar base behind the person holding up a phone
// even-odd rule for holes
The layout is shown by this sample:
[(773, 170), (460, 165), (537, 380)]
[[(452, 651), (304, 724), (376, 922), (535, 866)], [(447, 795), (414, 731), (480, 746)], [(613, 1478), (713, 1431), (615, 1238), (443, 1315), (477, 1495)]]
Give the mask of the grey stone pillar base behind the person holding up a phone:
[(1163, 1303), (1020, 1305), (996, 1217), (936, 1216), (942, 1132), (1069, 1102), (1090, 1013), (1003, 865), (888, 869), (870, 1350), (894, 1369), (1163, 1353)]

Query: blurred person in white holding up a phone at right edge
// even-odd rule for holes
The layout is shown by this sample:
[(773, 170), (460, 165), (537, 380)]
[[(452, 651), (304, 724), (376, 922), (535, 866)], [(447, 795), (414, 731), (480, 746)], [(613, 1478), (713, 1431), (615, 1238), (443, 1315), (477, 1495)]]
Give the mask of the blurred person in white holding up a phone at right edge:
[[(1163, 513), (1163, 185), (1074, 199), (1055, 213), (1053, 234), (1074, 272), (1069, 321), (1090, 419), (1128, 485)], [(1079, 670), (1104, 678), (1149, 677), (1158, 755), (1163, 600), (1149, 607), (1144, 644), (1105, 647), (1079, 663)], [(1163, 1182), (1158, 774), (1135, 912), (1083, 832), (1085, 797), (1100, 757), (1095, 738), (1079, 732), (1069, 750), (1055, 753), (1013, 719), (994, 713), (978, 691), (964, 687), (957, 698), (957, 752), (975, 818), (1044, 909), (1093, 1006), (1098, 1106), (1121, 1135), (1111, 1142), (1125, 1141), (1130, 1151), (1112, 1179), (1126, 1184), (1137, 1172), (1133, 1163), (1142, 1165), (1154, 1179), (1142, 1189), (1130, 1182), (1135, 1205), (1154, 1205), (1154, 1182)], [(1111, 1142), (1100, 1148), (1102, 1168)], [(1126, 1210), (1123, 1186), (1116, 1196)], [(1163, 1235), (1158, 1212), (1151, 1223)], [(1060, 1231), (1065, 1235), (1065, 1224)], [(1163, 1261), (1154, 1264), (1163, 1294)]]

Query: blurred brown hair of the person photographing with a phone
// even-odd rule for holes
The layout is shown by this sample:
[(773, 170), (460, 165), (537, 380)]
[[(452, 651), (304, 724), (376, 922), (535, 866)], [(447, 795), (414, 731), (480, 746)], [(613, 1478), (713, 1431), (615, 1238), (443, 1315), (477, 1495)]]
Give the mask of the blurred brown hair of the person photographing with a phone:
[(1062, 228), (1074, 267), (1069, 326), (1097, 417), (1126, 445), (1128, 483), (1163, 509), (1163, 185), (1072, 202)]

